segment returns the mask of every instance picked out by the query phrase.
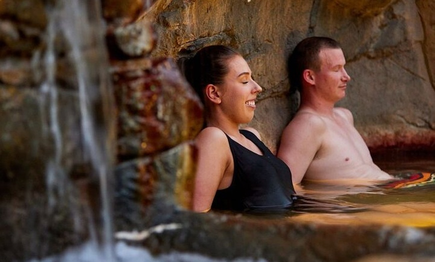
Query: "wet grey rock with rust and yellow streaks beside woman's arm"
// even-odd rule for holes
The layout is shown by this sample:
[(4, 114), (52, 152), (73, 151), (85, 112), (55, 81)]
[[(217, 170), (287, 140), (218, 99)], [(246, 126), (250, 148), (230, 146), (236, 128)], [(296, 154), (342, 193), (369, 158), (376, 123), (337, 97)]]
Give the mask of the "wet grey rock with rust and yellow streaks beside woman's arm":
[(115, 169), (116, 230), (139, 230), (172, 219), (192, 204), (196, 149), (181, 143)]

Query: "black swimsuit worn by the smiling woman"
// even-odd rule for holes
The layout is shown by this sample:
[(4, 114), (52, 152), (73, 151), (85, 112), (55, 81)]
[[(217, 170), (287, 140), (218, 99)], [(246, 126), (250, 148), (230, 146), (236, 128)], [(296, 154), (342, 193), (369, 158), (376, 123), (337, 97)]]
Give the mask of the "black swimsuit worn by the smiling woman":
[(228, 135), (234, 160), (234, 172), (229, 187), (216, 191), (212, 209), (274, 210), (288, 208), (295, 194), (288, 166), (277, 158), (255, 134), (240, 130), (262, 151), (259, 155)]

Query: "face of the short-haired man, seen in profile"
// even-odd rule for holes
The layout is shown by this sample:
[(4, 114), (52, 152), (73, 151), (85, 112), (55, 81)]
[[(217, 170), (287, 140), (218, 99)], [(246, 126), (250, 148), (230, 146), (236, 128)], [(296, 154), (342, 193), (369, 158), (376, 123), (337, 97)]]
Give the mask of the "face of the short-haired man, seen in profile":
[(323, 48), (319, 52), (320, 69), (314, 72), (317, 92), (333, 103), (346, 94), (347, 81), (350, 76), (344, 69), (346, 60), (339, 48)]

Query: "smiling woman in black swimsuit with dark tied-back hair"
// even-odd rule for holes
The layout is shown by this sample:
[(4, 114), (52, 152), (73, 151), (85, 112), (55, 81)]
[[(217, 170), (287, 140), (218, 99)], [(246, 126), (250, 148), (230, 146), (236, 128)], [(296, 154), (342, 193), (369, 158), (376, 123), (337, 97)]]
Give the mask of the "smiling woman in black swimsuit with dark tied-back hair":
[(261, 87), (235, 50), (212, 45), (184, 61), (184, 75), (204, 103), (205, 128), (196, 137), (193, 210), (288, 208), (294, 189), (287, 165), (248, 123)]

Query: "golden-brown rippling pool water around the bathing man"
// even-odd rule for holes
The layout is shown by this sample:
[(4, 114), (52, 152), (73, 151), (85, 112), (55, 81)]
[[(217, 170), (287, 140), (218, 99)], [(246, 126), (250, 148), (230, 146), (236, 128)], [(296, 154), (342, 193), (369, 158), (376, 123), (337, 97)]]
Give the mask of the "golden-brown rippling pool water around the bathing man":
[[(373, 161), (397, 179), (415, 172), (435, 172), (435, 154), (428, 151), (383, 151)], [(401, 188), (339, 181), (305, 181), (288, 219), (321, 224), (380, 223), (408, 226), (435, 225), (435, 183)]]

